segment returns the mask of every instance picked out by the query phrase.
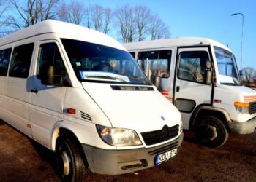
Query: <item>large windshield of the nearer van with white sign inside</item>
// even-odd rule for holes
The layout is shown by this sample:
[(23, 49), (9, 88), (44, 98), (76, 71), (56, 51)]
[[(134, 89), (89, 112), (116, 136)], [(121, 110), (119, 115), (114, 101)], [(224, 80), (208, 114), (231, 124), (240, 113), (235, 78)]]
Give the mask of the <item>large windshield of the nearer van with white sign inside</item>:
[(151, 84), (129, 52), (85, 41), (61, 41), (81, 82)]

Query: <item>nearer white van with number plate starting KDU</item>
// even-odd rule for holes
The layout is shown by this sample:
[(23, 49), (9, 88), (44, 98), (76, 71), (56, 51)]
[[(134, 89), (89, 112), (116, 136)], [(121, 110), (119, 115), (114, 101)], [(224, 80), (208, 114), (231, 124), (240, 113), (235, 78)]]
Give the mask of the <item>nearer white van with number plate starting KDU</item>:
[(0, 118), (56, 151), (64, 181), (159, 165), (183, 140), (180, 112), (121, 44), (55, 20), (0, 39)]

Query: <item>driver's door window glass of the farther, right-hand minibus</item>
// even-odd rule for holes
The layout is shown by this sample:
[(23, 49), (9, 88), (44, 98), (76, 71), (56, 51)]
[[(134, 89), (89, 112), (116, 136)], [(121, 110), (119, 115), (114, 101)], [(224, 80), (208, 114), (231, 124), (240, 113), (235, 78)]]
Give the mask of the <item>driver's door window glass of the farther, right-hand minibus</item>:
[(206, 51), (181, 52), (179, 55), (178, 78), (203, 83), (206, 60), (209, 60)]

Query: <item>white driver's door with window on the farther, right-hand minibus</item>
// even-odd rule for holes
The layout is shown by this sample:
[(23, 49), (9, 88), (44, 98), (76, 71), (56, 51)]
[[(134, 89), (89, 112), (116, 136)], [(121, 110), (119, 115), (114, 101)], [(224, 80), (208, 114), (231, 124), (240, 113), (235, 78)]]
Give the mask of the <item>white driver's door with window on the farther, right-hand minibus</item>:
[(195, 108), (211, 104), (212, 85), (206, 83), (206, 62), (211, 61), (210, 47), (178, 48), (173, 103), (179, 111), (184, 129)]

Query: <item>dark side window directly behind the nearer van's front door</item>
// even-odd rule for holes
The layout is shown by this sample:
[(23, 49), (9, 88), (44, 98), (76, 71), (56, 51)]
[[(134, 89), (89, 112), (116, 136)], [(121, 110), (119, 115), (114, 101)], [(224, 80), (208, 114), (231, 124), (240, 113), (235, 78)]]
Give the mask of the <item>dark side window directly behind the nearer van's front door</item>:
[(34, 43), (15, 47), (12, 53), (9, 76), (27, 78), (33, 53)]

